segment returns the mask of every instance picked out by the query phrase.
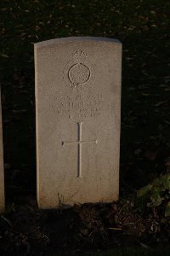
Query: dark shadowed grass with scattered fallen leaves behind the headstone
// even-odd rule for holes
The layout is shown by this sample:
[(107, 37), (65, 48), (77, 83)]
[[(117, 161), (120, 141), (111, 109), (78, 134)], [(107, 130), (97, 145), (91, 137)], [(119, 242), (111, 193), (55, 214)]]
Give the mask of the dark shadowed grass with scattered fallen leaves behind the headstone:
[[(169, 1), (1, 0), (0, 9), (9, 204), (36, 195), (33, 44), (52, 38), (95, 36), (122, 41), (122, 197), (133, 197), (137, 189), (170, 171)], [(26, 208), (23, 214), (29, 211)]]

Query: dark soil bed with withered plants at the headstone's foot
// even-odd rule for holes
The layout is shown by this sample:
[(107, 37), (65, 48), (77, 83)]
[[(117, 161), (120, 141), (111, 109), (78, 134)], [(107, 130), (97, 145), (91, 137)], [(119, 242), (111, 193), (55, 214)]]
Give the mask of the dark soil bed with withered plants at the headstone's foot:
[(1, 255), (67, 255), (170, 241), (166, 218), (141, 218), (130, 202), (55, 210), (39, 210), (31, 197), (23, 203), (0, 218)]

